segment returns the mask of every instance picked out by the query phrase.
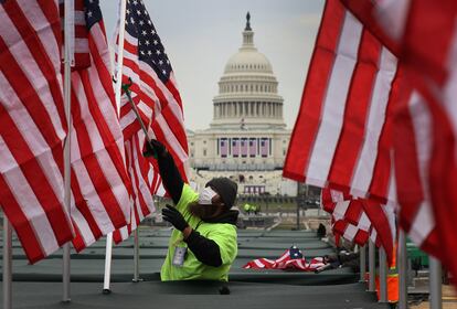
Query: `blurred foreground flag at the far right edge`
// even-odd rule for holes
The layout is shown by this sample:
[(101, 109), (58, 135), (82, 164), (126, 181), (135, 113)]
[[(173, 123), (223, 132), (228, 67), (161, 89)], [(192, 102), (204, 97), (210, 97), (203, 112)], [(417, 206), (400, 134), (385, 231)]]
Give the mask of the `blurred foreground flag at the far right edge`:
[(406, 67), (413, 89), (396, 114), (394, 140), (400, 224), (457, 276), (457, 2), (343, 2), (384, 44), (394, 42)]

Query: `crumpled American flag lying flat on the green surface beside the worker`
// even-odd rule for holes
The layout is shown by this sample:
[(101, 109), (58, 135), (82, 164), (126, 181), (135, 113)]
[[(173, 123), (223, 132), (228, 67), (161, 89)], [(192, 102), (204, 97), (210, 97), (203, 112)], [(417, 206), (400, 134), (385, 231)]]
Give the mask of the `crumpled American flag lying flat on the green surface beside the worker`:
[(243, 268), (265, 268), (265, 269), (297, 269), (304, 271), (313, 271), (316, 268), (323, 266), (323, 259), (316, 257), (309, 263), (306, 262), (302, 253), (296, 247), (288, 248), (279, 258), (273, 260), (268, 258), (256, 258), (248, 262)]

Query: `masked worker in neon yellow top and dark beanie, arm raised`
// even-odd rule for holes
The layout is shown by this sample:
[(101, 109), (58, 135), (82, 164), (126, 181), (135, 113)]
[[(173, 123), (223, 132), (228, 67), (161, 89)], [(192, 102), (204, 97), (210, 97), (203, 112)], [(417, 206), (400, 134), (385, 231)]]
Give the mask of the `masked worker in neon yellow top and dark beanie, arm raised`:
[(228, 280), (237, 254), (237, 185), (227, 178), (214, 178), (199, 194), (184, 183), (173, 158), (157, 140), (147, 145), (146, 157), (155, 156), (163, 185), (174, 206), (162, 210), (171, 233), (160, 278), (166, 280)]

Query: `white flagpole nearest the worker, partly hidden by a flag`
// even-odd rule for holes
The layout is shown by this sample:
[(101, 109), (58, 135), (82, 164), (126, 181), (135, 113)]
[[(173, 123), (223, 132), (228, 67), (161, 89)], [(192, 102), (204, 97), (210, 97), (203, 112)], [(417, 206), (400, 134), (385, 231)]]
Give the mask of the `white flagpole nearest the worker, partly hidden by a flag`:
[[(126, 7), (127, 1), (119, 1), (119, 41), (117, 50), (117, 64), (116, 64), (116, 79), (119, 83), (115, 84), (115, 98), (116, 98), (116, 108), (117, 116), (120, 116), (120, 92), (121, 92), (121, 81), (123, 81), (123, 60), (124, 60), (124, 32), (126, 26)], [(113, 258), (113, 233), (106, 235), (106, 251), (105, 251), (105, 276), (103, 283), (103, 294), (110, 294), (109, 288), (111, 280), (111, 258)]]

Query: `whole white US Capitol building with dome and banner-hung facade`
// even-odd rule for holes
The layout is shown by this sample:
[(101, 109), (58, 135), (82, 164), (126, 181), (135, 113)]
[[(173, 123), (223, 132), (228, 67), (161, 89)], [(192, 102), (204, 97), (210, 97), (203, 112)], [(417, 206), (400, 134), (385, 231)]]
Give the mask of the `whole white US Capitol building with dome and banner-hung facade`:
[(213, 98), (213, 120), (188, 130), (190, 180), (202, 188), (213, 177), (228, 177), (241, 194), (295, 195), (296, 182), (283, 179), (290, 130), (284, 99), (268, 58), (254, 45), (249, 13), (243, 44), (225, 65)]

